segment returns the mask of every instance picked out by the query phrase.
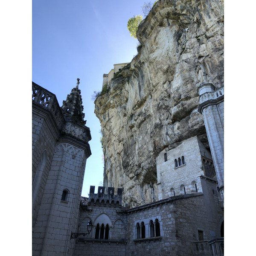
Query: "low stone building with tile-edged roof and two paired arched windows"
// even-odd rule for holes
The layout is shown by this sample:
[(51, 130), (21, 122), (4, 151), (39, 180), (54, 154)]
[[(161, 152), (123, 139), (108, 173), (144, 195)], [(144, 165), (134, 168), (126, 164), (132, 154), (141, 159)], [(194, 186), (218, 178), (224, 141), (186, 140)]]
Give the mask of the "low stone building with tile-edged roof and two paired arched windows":
[[(221, 219), (222, 215), (218, 217)], [(154, 221), (154, 218), (160, 222), (160, 237), (150, 238), (146, 231), (145, 239), (134, 239), (135, 224), (144, 221), (148, 226), (149, 220)], [(221, 228), (219, 222), (208, 221), (204, 195), (201, 193), (175, 196), (168, 202), (160, 201), (154, 206), (128, 210), (127, 223), (126, 256), (208, 256), (209, 245), (205, 240), (220, 236)], [(204, 241), (198, 241), (198, 230), (203, 231)], [(201, 250), (201, 244), (204, 250)]]

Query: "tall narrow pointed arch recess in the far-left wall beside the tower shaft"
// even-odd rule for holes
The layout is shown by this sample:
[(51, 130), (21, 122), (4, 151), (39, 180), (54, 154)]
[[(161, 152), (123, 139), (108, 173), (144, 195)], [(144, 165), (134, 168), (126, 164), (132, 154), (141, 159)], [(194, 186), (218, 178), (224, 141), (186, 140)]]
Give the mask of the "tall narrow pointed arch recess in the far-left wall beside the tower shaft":
[(44, 174), (45, 166), (47, 163), (47, 151), (44, 150), (41, 154), (40, 160), (38, 162), (38, 167), (35, 171), (35, 176), (32, 181), (32, 210), (34, 211), (35, 202), (37, 201), (38, 191), (41, 186), (41, 180)]

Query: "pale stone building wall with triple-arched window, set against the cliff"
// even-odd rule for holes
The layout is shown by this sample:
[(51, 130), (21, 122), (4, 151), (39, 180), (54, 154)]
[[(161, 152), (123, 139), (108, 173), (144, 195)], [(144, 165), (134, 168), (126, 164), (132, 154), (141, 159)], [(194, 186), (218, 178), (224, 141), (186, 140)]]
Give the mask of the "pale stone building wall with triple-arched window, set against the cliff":
[[(165, 161), (165, 154), (167, 161)], [(196, 192), (196, 189), (198, 192), (202, 192), (199, 178), (200, 175), (205, 175), (202, 168), (202, 156), (211, 159), (210, 153), (198, 141), (197, 136), (184, 140), (169, 151), (163, 150), (156, 159), (158, 199), (183, 195), (184, 187), (186, 193)], [(178, 161), (178, 158), (182, 157), (184, 157), (185, 163), (175, 167), (175, 159)]]

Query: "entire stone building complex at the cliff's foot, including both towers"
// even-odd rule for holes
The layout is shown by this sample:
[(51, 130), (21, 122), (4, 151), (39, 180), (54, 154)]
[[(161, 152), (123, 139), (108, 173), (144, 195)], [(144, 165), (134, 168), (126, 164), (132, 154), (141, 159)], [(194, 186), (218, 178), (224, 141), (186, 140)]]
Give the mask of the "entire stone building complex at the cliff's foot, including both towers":
[(78, 86), (60, 107), (32, 82), (32, 255), (224, 255), (223, 87), (198, 89), (212, 154), (197, 136), (162, 151), (158, 201), (128, 209), (120, 188), (81, 197), (91, 135)]

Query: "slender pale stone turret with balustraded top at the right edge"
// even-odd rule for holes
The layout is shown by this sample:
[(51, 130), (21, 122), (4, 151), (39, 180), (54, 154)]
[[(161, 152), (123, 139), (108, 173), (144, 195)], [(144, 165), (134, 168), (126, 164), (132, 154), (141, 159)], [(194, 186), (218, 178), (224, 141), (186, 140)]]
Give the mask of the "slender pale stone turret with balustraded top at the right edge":
[(199, 108), (203, 114), (212, 160), (224, 204), (224, 87), (215, 90), (211, 83), (198, 87)]

